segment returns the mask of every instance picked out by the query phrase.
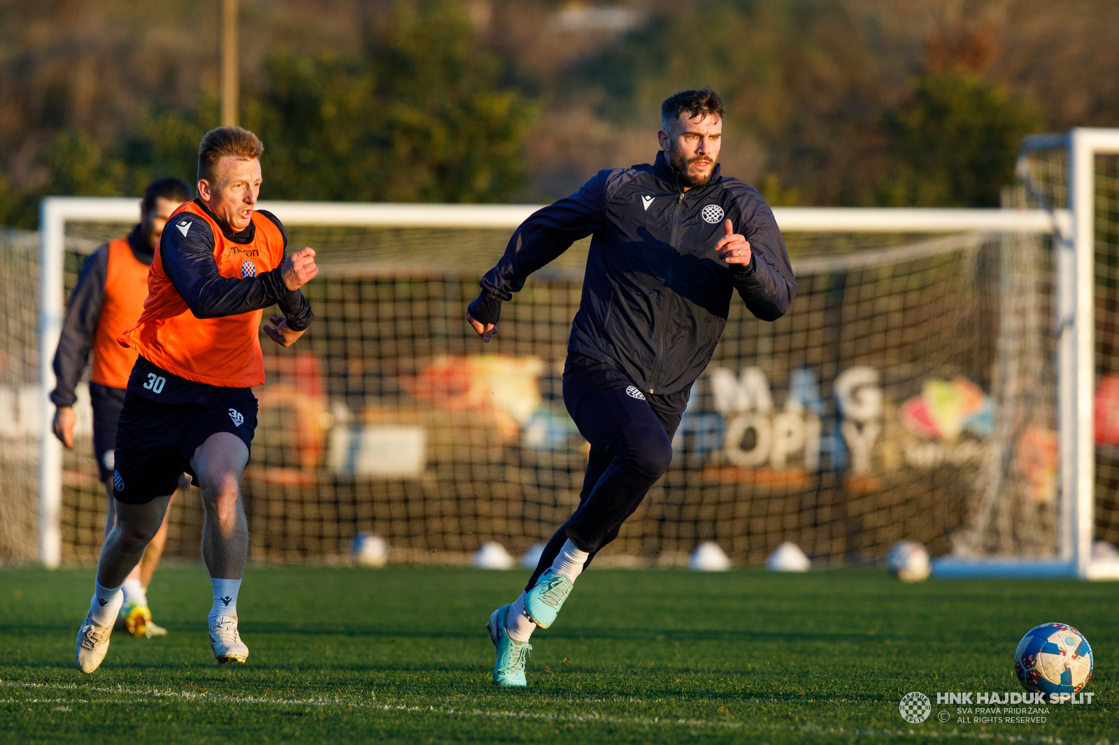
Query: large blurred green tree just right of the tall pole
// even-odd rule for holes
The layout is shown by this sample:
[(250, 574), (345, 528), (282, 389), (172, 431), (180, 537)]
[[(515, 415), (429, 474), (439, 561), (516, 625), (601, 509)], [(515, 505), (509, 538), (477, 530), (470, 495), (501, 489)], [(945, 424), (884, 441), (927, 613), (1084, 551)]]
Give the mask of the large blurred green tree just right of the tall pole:
[(525, 178), (535, 106), (498, 83), (459, 2), (399, 2), (360, 57), (282, 51), (247, 106), (270, 196), (501, 201)]

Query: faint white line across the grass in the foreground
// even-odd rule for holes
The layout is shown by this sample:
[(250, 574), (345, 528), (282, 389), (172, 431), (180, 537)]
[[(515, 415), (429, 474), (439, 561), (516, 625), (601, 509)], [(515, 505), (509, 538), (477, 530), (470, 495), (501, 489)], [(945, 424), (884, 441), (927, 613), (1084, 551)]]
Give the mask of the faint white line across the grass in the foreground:
[[(968, 738), (968, 739), (998, 739), (1010, 743), (1026, 743), (1029, 745), (1070, 745), (1071, 741), (1061, 737), (1026, 737), (1000, 733), (971, 733), (967, 730), (937, 732), (924, 729), (844, 729), (841, 727), (819, 727), (816, 725), (788, 726), (771, 724), (755, 724), (749, 722), (712, 722), (707, 719), (673, 719), (668, 717), (615, 717), (592, 711), (591, 714), (539, 714), (535, 711), (487, 711), (483, 709), (457, 709), (454, 707), (434, 706), (408, 706), (406, 704), (372, 704), (368, 701), (354, 701), (344, 698), (261, 698), (257, 696), (215, 696), (211, 694), (195, 694), (192, 691), (173, 690), (134, 690), (117, 686), (116, 688), (104, 688), (93, 686), (78, 686), (76, 683), (32, 683), (18, 680), (0, 680), (0, 688), (15, 689), (43, 689), (43, 690), (74, 690), (95, 694), (106, 694), (114, 696), (131, 696), (148, 699), (171, 699), (180, 701), (207, 702), (207, 704), (241, 704), (256, 706), (319, 706), (338, 707), (350, 709), (370, 709), (375, 711), (404, 711), (404, 713), (433, 713), (444, 716), (483, 717), (488, 719), (530, 719), (539, 722), (555, 722), (561, 724), (617, 724), (636, 725), (645, 727), (678, 726), (692, 728), (715, 728), (715, 729), (741, 729), (741, 730), (777, 730), (777, 732), (800, 732), (818, 735), (841, 735), (846, 737), (867, 738), (886, 737), (908, 739), (918, 738)], [(0, 704), (124, 704), (137, 705), (141, 701), (128, 699), (82, 699), (82, 698), (0, 698)], [(148, 702), (148, 701), (144, 701)], [(839, 702), (833, 700), (831, 702)], [(1117, 745), (1110, 739), (1079, 741), (1082, 745)]]

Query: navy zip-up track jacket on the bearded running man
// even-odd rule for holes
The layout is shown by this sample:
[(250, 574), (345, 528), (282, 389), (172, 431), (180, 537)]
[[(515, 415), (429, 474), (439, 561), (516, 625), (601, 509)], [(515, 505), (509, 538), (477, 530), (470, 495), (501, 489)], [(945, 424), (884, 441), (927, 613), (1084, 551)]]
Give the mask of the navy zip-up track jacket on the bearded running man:
[[(724, 219), (750, 242), (746, 265), (715, 251)], [(687, 390), (707, 367), (737, 290), (775, 321), (797, 294), (784, 238), (762, 196), (720, 175), (681, 191), (664, 152), (652, 166), (599, 171), (565, 199), (533, 213), (482, 277), (470, 314), (497, 323), (528, 275), (592, 235), (583, 296), (567, 350), (608, 362), (650, 394)]]

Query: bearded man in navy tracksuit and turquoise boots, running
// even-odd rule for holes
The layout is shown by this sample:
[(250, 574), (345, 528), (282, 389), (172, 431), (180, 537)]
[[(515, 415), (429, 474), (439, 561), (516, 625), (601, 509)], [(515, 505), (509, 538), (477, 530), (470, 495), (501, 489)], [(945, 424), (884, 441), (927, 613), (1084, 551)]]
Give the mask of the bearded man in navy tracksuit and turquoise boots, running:
[(490, 615), (493, 681), (525, 685), (528, 639), (555, 621), (575, 578), (668, 470), (692, 384), (707, 367), (736, 290), (764, 321), (797, 293), (769, 205), (718, 170), (724, 106), (709, 88), (660, 107), (651, 166), (599, 171), (526, 219), (481, 281), (467, 321), (489, 341), (501, 302), (592, 235), (572, 323), (563, 397), (591, 443), (580, 503), (516, 602)]

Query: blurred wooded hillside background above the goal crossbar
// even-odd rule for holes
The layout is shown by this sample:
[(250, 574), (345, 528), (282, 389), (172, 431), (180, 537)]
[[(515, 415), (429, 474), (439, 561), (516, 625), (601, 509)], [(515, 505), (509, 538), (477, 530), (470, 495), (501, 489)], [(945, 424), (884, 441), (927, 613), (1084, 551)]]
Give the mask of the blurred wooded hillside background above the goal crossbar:
[[(192, 180), (216, 124), (213, 12), (77, 4), (0, 0), (7, 224), (34, 226), (37, 197), (64, 185), (135, 195), (153, 176)], [(648, 161), (660, 101), (699, 85), (730, 107), (725, 172), (781, 202), (990, 204), (1015, 109), (1037, 131), (1119, 123), (1115, 0), (591, 4), (629, 20), (572, 25), (579, 3), (556, 0), (242, 3), (242, 119), (265, 139), (265, 195), (552, 199)], [(937, 183), (914, 182), (932, 158), (915, 142), (942, 148)]]

